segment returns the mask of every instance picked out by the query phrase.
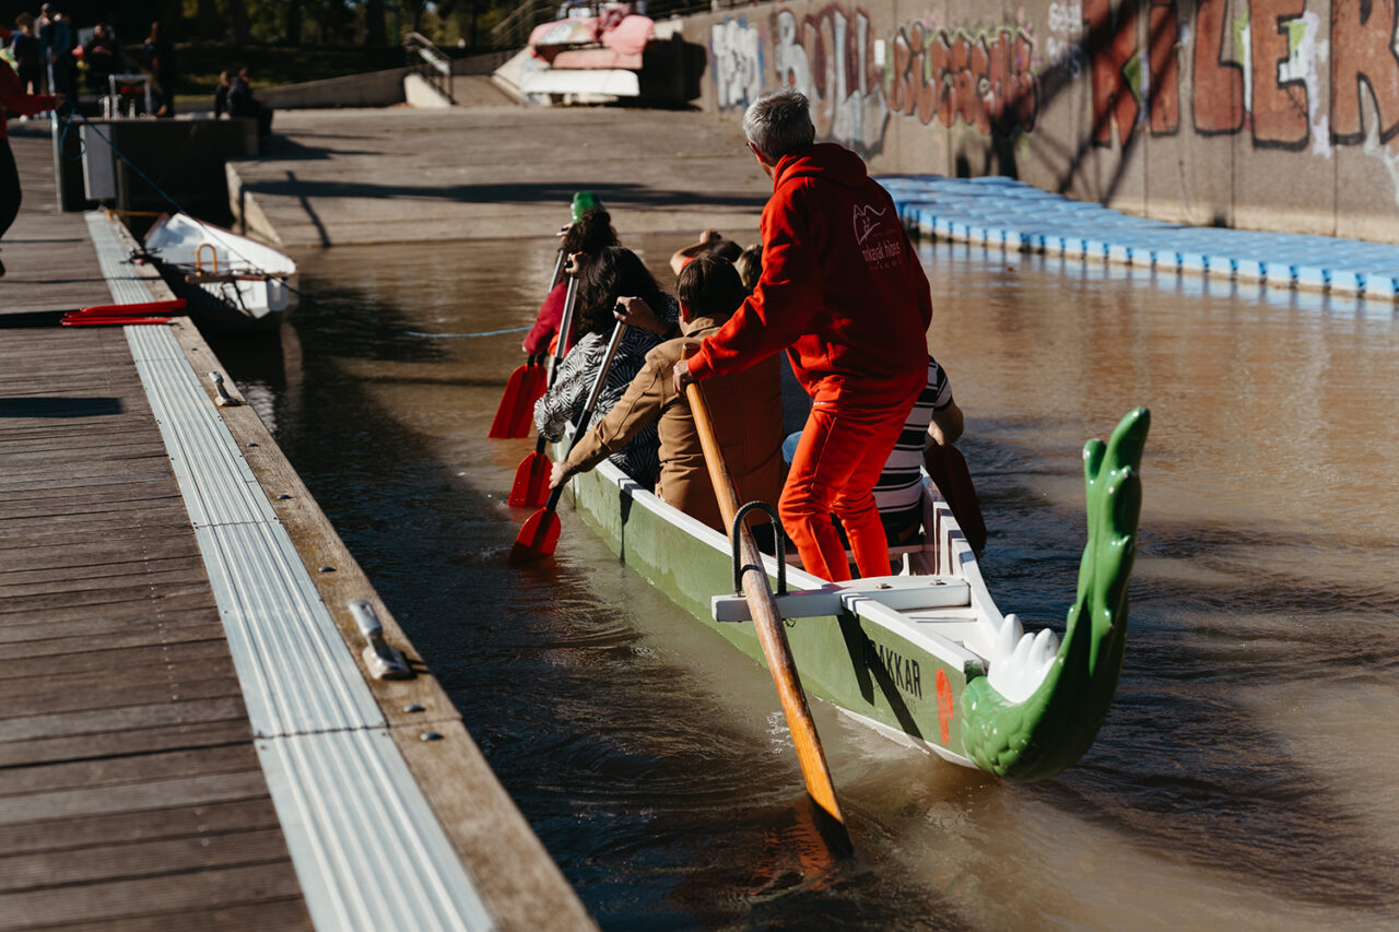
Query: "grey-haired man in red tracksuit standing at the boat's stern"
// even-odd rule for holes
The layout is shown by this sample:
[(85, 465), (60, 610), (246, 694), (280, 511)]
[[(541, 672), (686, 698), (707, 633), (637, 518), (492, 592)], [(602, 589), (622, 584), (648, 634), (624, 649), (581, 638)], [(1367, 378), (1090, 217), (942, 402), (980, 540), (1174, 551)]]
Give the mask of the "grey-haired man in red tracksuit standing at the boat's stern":
[(928, 277), (894, 202), (859, 155), (813, 144), (806, 97), (785, 90), (760, 98), (743, 132), (772, 179), (762, 277), (698, 354), (676, 364), (676, 389), (785, 348), (811, 414), (782, 488), (782, 523), (807, 571), (849, 579), (834, 514), (860, 575), (886, 575), (873, 488), (928, 381)]

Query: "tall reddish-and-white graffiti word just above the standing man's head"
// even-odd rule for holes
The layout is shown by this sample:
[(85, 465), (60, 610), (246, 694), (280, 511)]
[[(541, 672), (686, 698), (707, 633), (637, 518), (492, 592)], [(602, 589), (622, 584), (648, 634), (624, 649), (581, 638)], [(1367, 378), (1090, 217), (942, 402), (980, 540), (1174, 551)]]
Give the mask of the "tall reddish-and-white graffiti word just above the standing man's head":
[(863, 154), (880, 151), (888, 104), (874, 66), (869, 17), (856, 10), (852, 22), (832, 6), (799, 22), (790, 10), (781, 10), (772, 17), (772, 32), (778, 84), (810, 98), (817, 139)]

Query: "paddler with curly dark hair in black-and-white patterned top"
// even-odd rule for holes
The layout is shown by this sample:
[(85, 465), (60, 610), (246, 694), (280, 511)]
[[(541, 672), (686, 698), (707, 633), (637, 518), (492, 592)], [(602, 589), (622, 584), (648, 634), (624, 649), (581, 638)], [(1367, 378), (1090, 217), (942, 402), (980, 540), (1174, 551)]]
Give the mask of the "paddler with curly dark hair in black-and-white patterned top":
[[(534, 425), (547, 441), (564, 438), (588, 403), (593, 379), (607, 355), (607, 343), (618, 320), (628, 325), (607, 381), (593, 409), (606, 417), (646, 361), (646, 353), (673, 336), (680, 309), (656, 284), (651, 271), (630, 249), (607, 246), (585, 256), (578, 281), (578, 343), (558, 367), (554, 385), (534, 403)], [(641, 430), (624, 449), (611, 455), (628, 476), (651, 488), (660, 472), (660, 439), (656, 425)]]

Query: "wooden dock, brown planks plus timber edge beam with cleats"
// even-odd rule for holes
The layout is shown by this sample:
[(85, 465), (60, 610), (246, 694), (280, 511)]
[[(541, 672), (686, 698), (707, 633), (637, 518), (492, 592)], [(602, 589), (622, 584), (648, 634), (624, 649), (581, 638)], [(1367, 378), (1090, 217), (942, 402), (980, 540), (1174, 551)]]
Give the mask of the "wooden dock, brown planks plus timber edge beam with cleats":
[[(87, 221), (57, 210), (46, 125), (11, 144), (25, 203), (0, 243), (0, 929), (353, 928), (326, 919), (336, 887), (315, 879), (313, 844), (299, 819), (285, 824), (287, 791), (274, 799), (264, 772), (278, 742), (323, 736), (250, 723), (259, 700), (245, 700), (229, 612), (126, 327), (39, 313), (112, 302)], [(155, 278), (151, 297), (162, 288)], [(221, 369), (193, 326), (172, 332), (192, 371)], [(417, 672), (364, 683), (382, 715), (371, 732), (392, 739), (484, 904), (485, 919), (441, 928), (592, 928), (256, 414), (218, 420), (276, 490), (271, 523), (353, 665), (365, 673), (348, 607), (364, 600)], [(438, 928), (411, 905), (400, 915), (397, 928)]]

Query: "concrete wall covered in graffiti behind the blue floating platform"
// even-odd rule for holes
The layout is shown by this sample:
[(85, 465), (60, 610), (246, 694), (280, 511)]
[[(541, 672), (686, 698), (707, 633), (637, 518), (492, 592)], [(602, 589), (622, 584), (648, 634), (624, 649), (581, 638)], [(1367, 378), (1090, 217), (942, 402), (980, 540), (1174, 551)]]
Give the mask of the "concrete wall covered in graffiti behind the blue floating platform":
[[(681, 21), (698, 104), (802, 88), (874, 172), (1399, 242), (1399, 0), (820, 0)], [(1255, 15), (1256, 14), (1256, 15)]]

